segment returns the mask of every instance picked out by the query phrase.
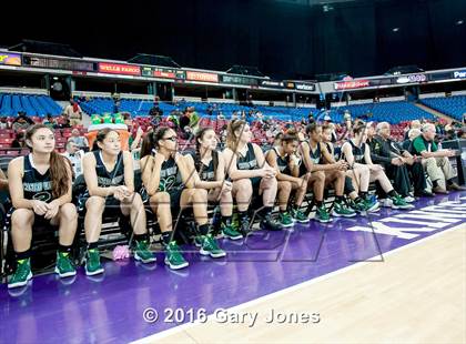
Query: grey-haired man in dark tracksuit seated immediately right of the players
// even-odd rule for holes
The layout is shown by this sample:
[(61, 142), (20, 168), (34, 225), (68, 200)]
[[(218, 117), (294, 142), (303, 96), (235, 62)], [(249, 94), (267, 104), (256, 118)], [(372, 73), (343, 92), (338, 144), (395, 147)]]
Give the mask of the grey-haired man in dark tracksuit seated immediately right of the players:
[[(385, 168), (387, 176), (394, 181), (393, 186), (408, 203), (414, 202), (409, 195), (412, 182), (417, 196), (432, 194), (425, 192), (427, 186), (424, 169), (408, 151), (391, 139), (391, 125), (387, 122), (377, 124), (377, 134), (369, 143), (371, 159)], [(412, 174), (412, 179), (409, 176)]]

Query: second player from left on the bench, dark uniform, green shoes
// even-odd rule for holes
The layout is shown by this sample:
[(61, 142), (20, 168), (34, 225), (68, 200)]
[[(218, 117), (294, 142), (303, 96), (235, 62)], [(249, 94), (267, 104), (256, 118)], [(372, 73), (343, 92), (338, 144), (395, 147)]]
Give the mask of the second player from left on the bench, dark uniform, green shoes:
[(144, 205), (141, 195), (134, 192), (133, 159), (130, 152), (121, 150), (119, 133), (111, 129), (99, 131), (93, 151), (84, 155), (82, 165), (88, 186), (79, 199), (80, 210), (85, 211), (85, 274), (103, 273), (98, 241), (104, 211), (130, 216), (134, 232), (134, 259), (142, 263), (155, 262), (149, 247)]

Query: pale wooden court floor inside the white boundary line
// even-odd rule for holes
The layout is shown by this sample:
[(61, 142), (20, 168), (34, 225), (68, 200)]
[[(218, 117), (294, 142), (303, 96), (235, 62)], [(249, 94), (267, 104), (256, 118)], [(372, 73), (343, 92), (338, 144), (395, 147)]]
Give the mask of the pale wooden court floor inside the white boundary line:
[[(317, 280), (140, 342), (466, 343), (466, 223)], [(270, 324), (272, 310), (318, 322)], [(231, 323), (245, 314), (253, 326)]]

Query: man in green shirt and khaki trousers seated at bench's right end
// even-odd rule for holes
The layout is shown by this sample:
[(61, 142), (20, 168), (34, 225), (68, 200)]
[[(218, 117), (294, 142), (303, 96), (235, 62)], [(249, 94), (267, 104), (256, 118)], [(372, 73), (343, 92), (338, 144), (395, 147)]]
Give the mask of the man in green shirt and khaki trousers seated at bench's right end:
[(413, 141), (411, 153), (423, 158), (422, 164), (432, 180), (435, 193), (448, 193), (447, 190), (466, 190), (454, 181), (456, 175), (448, 158), (455, 156), (455, 151), (439, 150), (434, 141), (435, 134), (434, 124), (424, 124), (422, 134)]

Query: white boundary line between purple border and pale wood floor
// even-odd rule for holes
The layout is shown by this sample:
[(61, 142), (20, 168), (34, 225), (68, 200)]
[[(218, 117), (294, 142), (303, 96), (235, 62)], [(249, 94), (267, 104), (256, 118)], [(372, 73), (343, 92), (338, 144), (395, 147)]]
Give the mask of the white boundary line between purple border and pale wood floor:
[[(453, 232), (453, 231), (459, 230), (459, 229), (462, 229), (462, 227), (464, 227), (464, 226), (465, 226), (465, 223), (463, 222), (462, 224), (458, 224), (458, 225), (456, 225), (456, 226), (454, 226), (454, 227), (452, 227), (452, 229), (448, 229), (448, 230), (445, 230), (445, 231), (442, 231), (442, 232), (435, 233), (435, 234), (433, 234), (433, 235), (430, 235), (430, 236), (427, 236), (427, 237), (424, 237), (424, 239), (417, 240), (417, 241), (415, 241), (415, 242), (413, 242), (413, 243), (409, 243), (409, 244), (403, 245), (403, 246), (401, 246), (401, 247), (397, 247), (397, 249), (395, 249), (395, 250), (388, 251), (388, 252), (383, 253), (383, 254), (384, 254), (384, 256), (392, 255), (392, 254), (394, 254), (394, 253), (401, 252), (401, 251), (406, 250), (406, 249), (409, 249), (409, 247), (417, 246), (418, 244), (422, 244), (422, 243), (425, 243), (425, 242), (427, 242), (427, 241), (429, 241), (429, 240), (436, 239), (436, 237), (438, 237), (438, 236), (440, 236), (440, 235), (443, 235), (443, 234), (445, 234), (445, 233), (449, 233), (449, 232)], [(369, 260), (371, 260), (371, 259), (372, 259), (372, 257), (369, 257)], [(255, 305), (255, 304), (262, 303), (262, 302), (264, 302), (264, 301), (267, 301), (267, 300), (271, 300), (271, 299), (274, 299), (274, 297), (278, 297), (278, 296), (286, 295), (286, 294), (288, 294), (288, 293), (292, 293), (292, 292), (294, 292), (294, 291), (296, 291), (296, 290), (300, 290), (300, 289), (306, 287), (306, 286), (312, 285), (312, 284), (314, 284), (314, 283), (317, 283), (317, 282), (321, 282), (321, 281), (325, 281), (325, 280), (327, 280), (327, 279), (330, 279), (330, 277), (333, 277), (333, 276), (335, 276), (335, 275), (340, 275), (340, 274), (345, 273), (345, 272), (347, 272), (347, 271), (351, 271), (351, 270), (353, 270), (353, 269), (361, 267), (361, 266), (363, 266), (364, 264), (367, 264), (367, 263), (373, 263), (373, 262), (371, 262), (371, 261), (358, 262), (358, 263), (355, 263), (355, 264), (352, 264), (352, 265), (345, 266), (345, 267), (343, 267), (343, 269), (340, 269), (340, 270), (336, 270), (336, 271), (330, 272), (330, 273), (327, 273), (327, 274), (325, 274), (325, 275), (322, 275), (322, 276), (318, 276), (318, 277), (315, 277), (315, 279), (312, 279), (312, 280), (308, 280), (308, 281), (301, 282), (301, 283), (298, 283), (298, 284), (295, 284), (295, 285), (292, 285), (292, 286), (285, 287), (285, 289), (283, 289), (283, 290), (280, 290), (280, 291), (273, 292), (273, 293), (267, 294), (267, 295), (264, 295), (264, 296), (260, 296), (260, 297), (257, 297), (257, 299), (254, 299), (254, 300), (247, 301), (247, 302), (245, 302), (245, 303), (241, 303), (241, 304), (239, 304), (239, 305), (235, 305), (235, 306), (233, 306), (233, 307), (227, 308), (227, 310), (229, 310), (229, 313), (236, 312), (236, 311), (243, 310), (243, 308), (245, 308), (245, 307), (250, 307), (250, 306), (252, 306), (252, 305)], [(209, 315), (209, 316), (207, 316), (207, 321), (209, 321), (210, 318), (212, 318), (212, 317), (213, 317), (213, 314)], [(142, 318), (142, 314), (141, 314), (141, 321), (144, 321), (144, 320)], [(168, 337), (168, 336), (174, 335), (174, 334), (176, 334), (176, 333), (179, 333), (179, 332), (185, 331), (185, 330), (191, 328), (191, 327), (193, 327), (193, 326), (195, 326), (195, 325), (199, 325), (199, 324), (201, 324), (201, 323), (200, 323), (200, 322), (197, 322), (197, 321), (192, 322), (192, 323), (181, 324), (181, 325), (179, 325), (179, 326), (175, 326), (175, 327), (172, 327), (172, 328), (169, 328), (169, 330), (165, 330), (165, 331), (162, 331), (162, 332), (159, 332), (159, 333), (152, 334), (152, 335), (150, 335), (150, 336), (143, 337), (143, 338), (141, 338), (141, 340), (138, 340), (138, 341), (134, 341), (134, 342), (131, 342), (131, 343), (134, 343), (134, 344), (153, 343), (153, 342), (155, 342), (155, 341), (158, 341), (158, 340), (162, 340), (162, 338), (165, 338), (165, 337)]]

